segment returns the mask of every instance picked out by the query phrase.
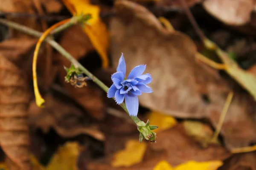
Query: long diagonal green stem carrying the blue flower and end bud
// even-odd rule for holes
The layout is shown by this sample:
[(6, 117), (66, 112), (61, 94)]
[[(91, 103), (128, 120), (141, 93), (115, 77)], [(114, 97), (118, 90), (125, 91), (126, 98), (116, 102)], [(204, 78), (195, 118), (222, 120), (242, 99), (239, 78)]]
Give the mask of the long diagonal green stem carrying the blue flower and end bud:
[[(75, 17), (73, 17), (75, 18)], [(75, 19), (74, 19), (75, 20)], [(74, 21), (73, 19), (71, 19), (72, 22), (68, 22), (66, 24), (64, 24), (63, 26), (61, 26), (61, 28), (56, 28), (55, 31), (53, 31), (53, 33), (62, 31), (70, 26), (73, 26), (74, 24), (78, 23), (78, 20), (76, 19)], [(15, 28), (19, 31), (23, 31), (26, 34), (32, 35), (34, 37), (38, 37), (40, 38), (42, 33), (39, 31), (35, 31), (31, 28), (28, 28), (26, 26), (22, 26), (20, 24), (14, 23), (12, 21), (8, 21), (8, 20), (4, 20), (4, 19), (0, 19), (0, 23), (9, 26), (11, 28)], [(57, 30), (57, 31), (56, 31)], [(84, 68), (83, 65), (81, 65), (76, 59), (74, 59), (64, 48), (61, 47), (61, 45), (59, 45), (55, 40), (52, 40), (51, 38), (46, 38), (45, 39), (46, 42), (48, 42), (53, 48), (55, 48), (59, 53), (61, 53), (65, 58), (67, 58), (71, 63), (73, 63), (73, 65), (76, 68), (79, 68), (82, 72), (84, 72), (84, 74), (86, 74), (88, 77), (90, 77), (92, 79), (93, 82), (95, 82), (97, 85), (99, 85), (100, 88), (102, 88), (106, 93), (108, 92), (108, 86), (106, 86), (103, 82), (101, 82), (97, 77), (95, 77), (92, 73), (90, 73), (90, 71), (88, 71), (86, 68)], [(125, 103), (121, 103), (120, 106), (126, 111), (126, 113), (129, 114)], [(141, 125), (142, 122), (137, 116), (130, 116), (131, 119), (136, 123), (136, 125), (138, 126), (138, 130), (139, 130), (139, 125)], [(145, 123), (144, 123), (145, 124)], [(155, 141), (155, 133), (152, 132), (149, 127), (140, 127), (140, 133), (143, 134), (144, 138), (154, 142)], [(153, 137), (152, 137), (153, 136)]]

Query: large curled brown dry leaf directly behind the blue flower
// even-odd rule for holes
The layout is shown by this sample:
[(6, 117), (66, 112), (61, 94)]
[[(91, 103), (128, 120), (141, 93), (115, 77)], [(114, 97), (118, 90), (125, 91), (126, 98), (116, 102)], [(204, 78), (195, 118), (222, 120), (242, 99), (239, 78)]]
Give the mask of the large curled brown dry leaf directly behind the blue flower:
[[(178, 31), (167, 31), (136, 3), (117, 1), (115, 8), (117, 15), (111, 20), (113, 67), (123, 52), (127, 72), (147, 64), (145, 72), (153, 77), (154, 93), (139, 96), (140, 104), (172, 116), (208, 118), (216, 126), (230, 87), (216, 72), (195, 61), (193, 41)], [(256, 141), (254, 101), (236, 91), (221, 129), (228, 148)]]

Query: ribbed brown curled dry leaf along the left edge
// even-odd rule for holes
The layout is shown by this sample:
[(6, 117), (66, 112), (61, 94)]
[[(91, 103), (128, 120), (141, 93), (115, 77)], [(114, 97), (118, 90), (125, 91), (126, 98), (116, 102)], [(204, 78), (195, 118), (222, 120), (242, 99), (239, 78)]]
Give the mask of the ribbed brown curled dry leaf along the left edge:
[(0, 55), (0, 145), (11, 170), (29, 170), (29, 90), (22, 71)]

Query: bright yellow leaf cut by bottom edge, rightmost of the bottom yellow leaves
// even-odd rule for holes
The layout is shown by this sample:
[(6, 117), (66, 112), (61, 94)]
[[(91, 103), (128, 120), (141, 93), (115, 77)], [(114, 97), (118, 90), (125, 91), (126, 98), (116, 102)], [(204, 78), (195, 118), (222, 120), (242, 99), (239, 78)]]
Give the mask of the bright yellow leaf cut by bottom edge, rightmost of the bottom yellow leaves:
[(217, 170), (222, 164), (222, 161), (218, 160), (206, 162), (188, 161), (178, 165), (174, 170)]

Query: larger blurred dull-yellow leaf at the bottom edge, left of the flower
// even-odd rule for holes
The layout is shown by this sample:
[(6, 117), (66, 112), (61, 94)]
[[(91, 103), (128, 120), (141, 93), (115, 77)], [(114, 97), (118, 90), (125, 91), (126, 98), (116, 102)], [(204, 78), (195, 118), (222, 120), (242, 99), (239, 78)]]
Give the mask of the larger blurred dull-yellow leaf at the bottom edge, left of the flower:
[(77, 142), (67, 142), (58, 149), (46, 170), (78, 170), (79, 153), (80, 146)]

